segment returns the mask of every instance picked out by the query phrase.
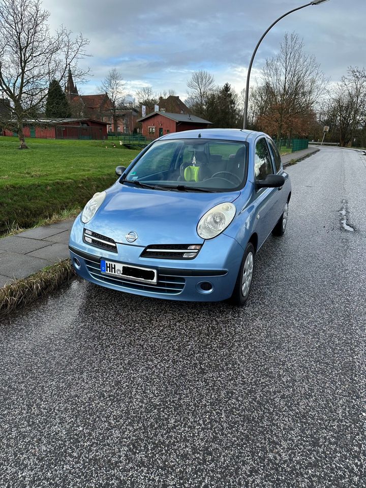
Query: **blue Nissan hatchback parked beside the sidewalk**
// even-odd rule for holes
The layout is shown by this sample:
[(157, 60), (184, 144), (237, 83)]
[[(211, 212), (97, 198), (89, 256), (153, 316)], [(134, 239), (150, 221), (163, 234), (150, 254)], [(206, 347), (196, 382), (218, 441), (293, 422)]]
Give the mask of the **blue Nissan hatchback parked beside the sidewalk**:
[(167, 134), (116, 174), (73, 225), (78, 275), (136, 295), (243, 305), (256, 253), (286, 229), (291, 183), (271, 138), (239, 129)]

